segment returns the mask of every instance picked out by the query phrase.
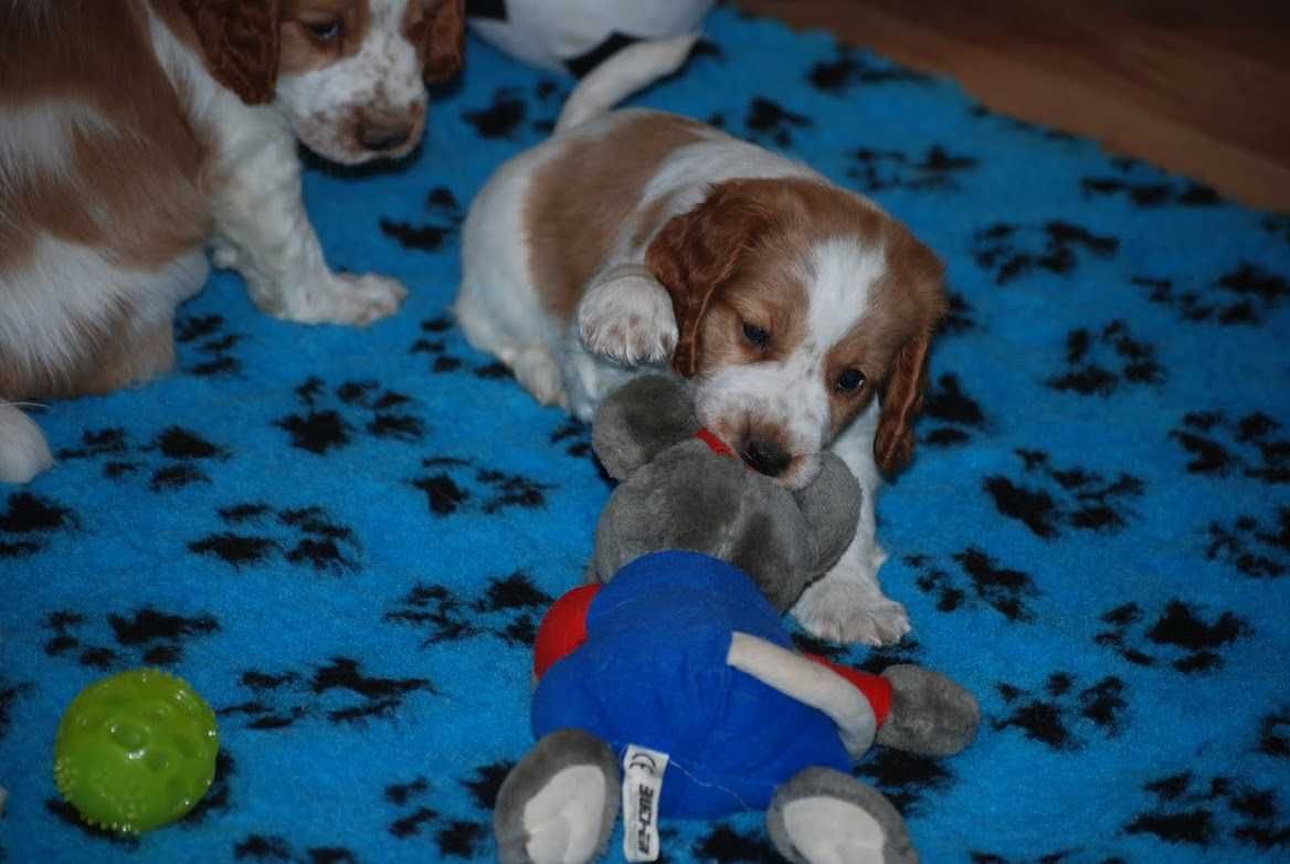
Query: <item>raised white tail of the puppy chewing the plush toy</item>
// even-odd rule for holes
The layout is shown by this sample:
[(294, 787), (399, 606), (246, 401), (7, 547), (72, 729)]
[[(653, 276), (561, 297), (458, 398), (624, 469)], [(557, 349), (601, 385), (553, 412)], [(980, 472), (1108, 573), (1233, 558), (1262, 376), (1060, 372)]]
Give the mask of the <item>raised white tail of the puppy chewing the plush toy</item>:
[(632, 93), (681, 68), (699, 34), (636, 43), (613, 54), (574, 88), (556, 121), (564, 132), (602, 115)]

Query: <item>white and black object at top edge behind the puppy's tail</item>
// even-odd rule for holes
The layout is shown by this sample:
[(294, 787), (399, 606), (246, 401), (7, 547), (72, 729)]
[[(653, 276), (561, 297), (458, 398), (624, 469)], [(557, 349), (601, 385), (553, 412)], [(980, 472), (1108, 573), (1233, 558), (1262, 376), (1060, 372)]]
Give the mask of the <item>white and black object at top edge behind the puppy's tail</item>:
[(582, 76), (632, 41), (697, 34), (716, 0), (470, 0), (471, 30), (525, 63)]

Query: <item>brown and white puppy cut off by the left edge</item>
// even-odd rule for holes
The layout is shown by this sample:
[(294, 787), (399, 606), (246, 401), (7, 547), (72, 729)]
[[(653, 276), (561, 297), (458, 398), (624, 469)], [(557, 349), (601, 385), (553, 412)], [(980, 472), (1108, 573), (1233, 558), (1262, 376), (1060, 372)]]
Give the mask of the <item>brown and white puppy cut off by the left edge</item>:
[(0, 481), (49, 463), (4, 400), (168, 370), (204, 245), (280, 319), (366, 324), (396, 281), (332, 272), (297, 142), (357, 164), (418, 143), (463, 0), (0, 1)]

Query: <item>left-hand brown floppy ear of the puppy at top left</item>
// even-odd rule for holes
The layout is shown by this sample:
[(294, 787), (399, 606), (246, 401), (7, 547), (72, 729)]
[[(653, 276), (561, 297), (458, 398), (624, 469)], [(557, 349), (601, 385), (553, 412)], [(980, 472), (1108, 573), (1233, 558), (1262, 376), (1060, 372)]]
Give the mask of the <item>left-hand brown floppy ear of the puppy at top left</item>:
[(246, 104), (273, 98), (279, 0), (179, 0), (197, 32), (210, 74)]

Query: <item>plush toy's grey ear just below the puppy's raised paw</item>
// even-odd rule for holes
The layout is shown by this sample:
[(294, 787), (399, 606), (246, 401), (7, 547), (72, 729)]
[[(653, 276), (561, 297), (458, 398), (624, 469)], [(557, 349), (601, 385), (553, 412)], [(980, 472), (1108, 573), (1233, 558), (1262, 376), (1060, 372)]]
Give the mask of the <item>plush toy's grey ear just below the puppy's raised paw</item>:
[(641, 375), (600, 404), (591, 429), (591, 446), (609, 476), (623, 480), (698, 431), (699, 422), (694, 418), (685, 382)]

